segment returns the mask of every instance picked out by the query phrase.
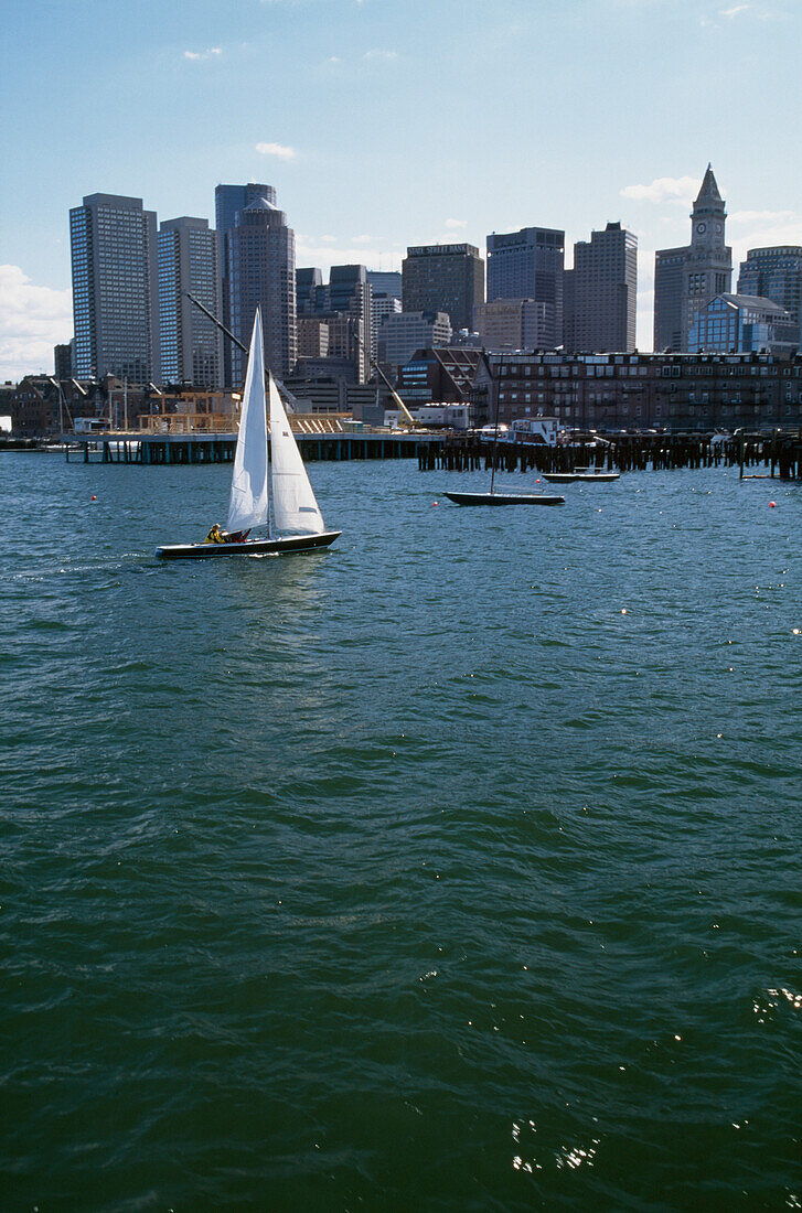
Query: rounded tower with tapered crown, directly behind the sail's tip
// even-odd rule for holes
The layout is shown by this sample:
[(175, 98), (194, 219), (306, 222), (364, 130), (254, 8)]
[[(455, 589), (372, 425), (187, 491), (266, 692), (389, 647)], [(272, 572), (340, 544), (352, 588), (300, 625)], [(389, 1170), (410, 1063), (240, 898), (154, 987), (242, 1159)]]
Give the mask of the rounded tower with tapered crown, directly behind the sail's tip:
[[(256, 307), (261, 306), (266, 364), (283, 378), (297, 358), (295, 233), (284, 211), (267, 198), (238, 211), (226, 237), (226, 255), (232, 332), (248, 347)], [(244, 382), (245, 364), (246, 355), (234, 347), (233, 383)]]

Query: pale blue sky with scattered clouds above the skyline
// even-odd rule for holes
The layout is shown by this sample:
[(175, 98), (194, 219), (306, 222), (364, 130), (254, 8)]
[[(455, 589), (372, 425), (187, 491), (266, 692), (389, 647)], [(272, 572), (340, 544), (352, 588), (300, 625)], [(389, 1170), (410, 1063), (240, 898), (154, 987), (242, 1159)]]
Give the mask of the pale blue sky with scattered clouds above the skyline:
[[(214, 226), (262, 181), (297, 264), (620, 220), (688, 244), (711, 161), (735, 267), (802, 245), (802, 0), (2, 0), (0, 382), (73, 334), (70, 206), (127, 194)], [(738, 270), (733, 278), (736, 285)]]

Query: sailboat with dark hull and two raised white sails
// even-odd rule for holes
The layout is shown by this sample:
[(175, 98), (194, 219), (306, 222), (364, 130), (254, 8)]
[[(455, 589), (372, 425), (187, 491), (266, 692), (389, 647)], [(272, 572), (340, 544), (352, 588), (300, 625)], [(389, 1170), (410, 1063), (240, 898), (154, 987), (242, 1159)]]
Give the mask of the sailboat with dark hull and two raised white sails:
[[(265, 378), (262, 315), (257, 308), (243, 392), (226, 530), (221, 533), (221, 540), (217, 542), (206, 540), (203, 543), (171, 543), (158, 547), (157, 556), (163, 560), (308, 552), (329, 547), (342, 534), (325, 529), (275, 381), (268, 372), (266, 392)], [(272, 491), (268, 491), (268, 473)], [(250, 539), (249, 534), (255, 529), (266, 529), (267, 536)]]

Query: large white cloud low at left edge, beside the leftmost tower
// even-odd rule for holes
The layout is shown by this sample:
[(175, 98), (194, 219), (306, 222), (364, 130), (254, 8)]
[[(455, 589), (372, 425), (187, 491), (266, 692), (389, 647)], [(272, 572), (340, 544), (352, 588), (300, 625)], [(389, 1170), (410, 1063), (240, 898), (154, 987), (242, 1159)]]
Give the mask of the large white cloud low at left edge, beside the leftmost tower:
[(36, 286), (19, 266), (0, 266), (0, 380), (52, 375), (53, 346), (72, 335), (72, 291)]

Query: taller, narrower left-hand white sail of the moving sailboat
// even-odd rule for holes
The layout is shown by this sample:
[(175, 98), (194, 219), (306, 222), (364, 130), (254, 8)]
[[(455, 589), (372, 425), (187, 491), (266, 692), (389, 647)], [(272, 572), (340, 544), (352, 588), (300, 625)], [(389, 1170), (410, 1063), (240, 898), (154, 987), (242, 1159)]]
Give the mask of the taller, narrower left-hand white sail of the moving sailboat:
[(262, 314), (256, 308), (248, 374), (234, 452), (226, 530), (250, 530), (267, 523), (267, 414)]

